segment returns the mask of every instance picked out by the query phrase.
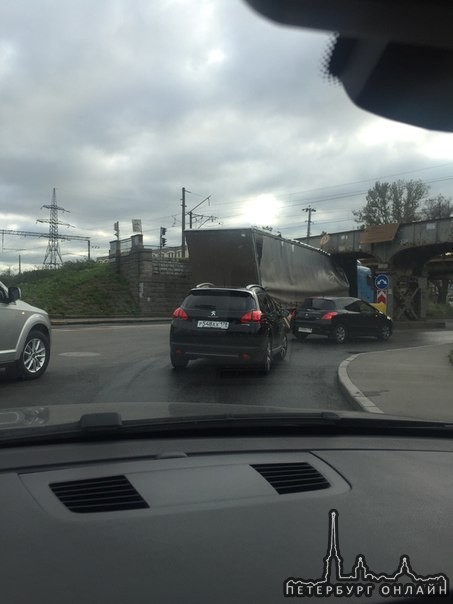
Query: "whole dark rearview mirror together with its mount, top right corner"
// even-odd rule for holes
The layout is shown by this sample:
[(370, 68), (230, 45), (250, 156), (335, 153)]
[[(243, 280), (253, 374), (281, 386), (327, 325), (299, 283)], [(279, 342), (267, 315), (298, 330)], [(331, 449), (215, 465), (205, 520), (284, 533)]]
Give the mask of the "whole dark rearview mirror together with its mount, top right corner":
[(245, 1), (277, 23), (335, 32), (323, 71), (358, 107), (453, 132), (451, 2)]

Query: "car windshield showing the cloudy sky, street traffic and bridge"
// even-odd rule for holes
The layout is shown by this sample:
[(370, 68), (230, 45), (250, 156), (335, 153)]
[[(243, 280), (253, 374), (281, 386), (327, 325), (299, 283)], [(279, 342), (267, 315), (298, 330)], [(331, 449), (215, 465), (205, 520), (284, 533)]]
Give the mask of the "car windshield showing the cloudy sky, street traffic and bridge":
[(451, 134), (359, 109), (330, 34), (241, 0), (0, 22), (0, 426), (453, 419)]

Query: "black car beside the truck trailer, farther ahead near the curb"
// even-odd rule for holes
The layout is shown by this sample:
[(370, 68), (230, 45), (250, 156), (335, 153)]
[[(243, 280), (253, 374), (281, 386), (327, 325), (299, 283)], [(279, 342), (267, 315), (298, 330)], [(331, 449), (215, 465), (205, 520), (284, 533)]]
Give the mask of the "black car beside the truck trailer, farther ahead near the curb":
[(306, 298), (293, 313), (291, 330), (298, 340), (311, 334), (328, 336), (341, 344), (349, 336), (375, 336), (388, 340), (392, 319), (359, 298)]

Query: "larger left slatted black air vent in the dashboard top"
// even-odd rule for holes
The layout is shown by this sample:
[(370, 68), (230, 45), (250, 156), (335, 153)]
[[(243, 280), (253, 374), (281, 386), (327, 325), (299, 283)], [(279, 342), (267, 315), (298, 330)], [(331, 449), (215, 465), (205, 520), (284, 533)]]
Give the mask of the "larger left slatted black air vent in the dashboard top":
[(58, 499), (77, 514), (149, 507), (125, 476), (55, 482), (49, 486)]

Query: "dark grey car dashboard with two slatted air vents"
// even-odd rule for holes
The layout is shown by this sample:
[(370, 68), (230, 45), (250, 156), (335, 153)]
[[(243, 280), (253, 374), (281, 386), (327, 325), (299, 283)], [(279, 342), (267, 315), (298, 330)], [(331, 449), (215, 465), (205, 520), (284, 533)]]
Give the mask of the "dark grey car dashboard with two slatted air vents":
[[(297, 582), (316, 600), (333, 563), (349, 579), (329, 574), (327, 595), (430, 601), (417, 578), (453, 576), (452, 467), (449, 439), (407, 436), (3, 448), (2, 602), (275, 603), (299, 599)], [(405, 557), (415, 579), (365, 593), (359, 557), (369, 577)]]

